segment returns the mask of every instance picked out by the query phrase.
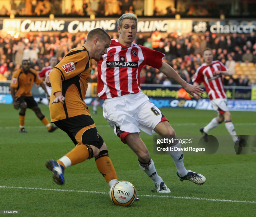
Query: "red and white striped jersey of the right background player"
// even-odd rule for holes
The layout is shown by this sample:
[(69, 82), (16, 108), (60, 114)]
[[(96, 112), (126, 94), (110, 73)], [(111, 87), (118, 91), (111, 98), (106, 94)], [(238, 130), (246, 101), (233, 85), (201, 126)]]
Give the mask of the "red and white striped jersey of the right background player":
[(204, 82), (205, 89), (210, 100), (227, 97), (222, 75), (213, 75), (213, 72), (216, 70), (228, 71), (228, 69), (219, 60), (212, 61), (209, 65), (203, 63), (197, 68), (192, 80), (198, 84)]

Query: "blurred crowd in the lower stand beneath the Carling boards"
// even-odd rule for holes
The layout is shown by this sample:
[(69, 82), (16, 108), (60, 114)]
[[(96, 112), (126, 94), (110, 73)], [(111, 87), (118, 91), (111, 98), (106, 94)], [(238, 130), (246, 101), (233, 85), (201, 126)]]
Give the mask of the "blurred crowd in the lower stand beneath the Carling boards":
[[(110, 33), (112, 38), (118, 35)], [(72, 35), (66, 32), (55, 34), (27, 33), (14, 39), (10, 36), (0, 37), (0, 79), (10, 80), (12, 73), (19, 69), (23, 59), (30, 59), (31, 67), (37, 71), (49, 66), (49, 59), (56, 56), (60, 61), (72, 48), (79, 47), (86, 40), (86, 33)], [(164, 61), (172, 66), (177, 73), (188, 83), (191, 83), (196, 69), (203, 63), (202, 50), (206, 47), (213, 49), (214, 60), (220, 60), (230, 71), (235, 74), (237, 62), (256, 63), (256, 38), (254, 32), (250, 35), (232, 34), (216, 35), (188, 34), (178, 36), (176, 33), (169, 35), (153, 32), (151, 37), (138, 34), (135, 43), (158, 50), (165, 54)], [(97, 67), (94, 62), (91, 82), (96, 81)], [(256, 74), (256, 72), (255, 72)], [(146, 84), (175, 84), (158, 69), (145, 66), (141, 71), (141, 83)], [(255, 84), (247, 75), (227, 77), (225, 85), (250, 86)]]

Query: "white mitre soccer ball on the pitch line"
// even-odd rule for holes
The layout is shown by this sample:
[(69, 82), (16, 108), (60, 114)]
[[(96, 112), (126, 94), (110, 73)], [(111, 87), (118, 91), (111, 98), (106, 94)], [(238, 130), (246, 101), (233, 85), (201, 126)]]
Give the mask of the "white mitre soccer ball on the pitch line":
[(129, 207), (136, 199), (136, 189), (131, 182), (118, 181), (109, 191), (110, 200), (116, 204), (124, 207)]

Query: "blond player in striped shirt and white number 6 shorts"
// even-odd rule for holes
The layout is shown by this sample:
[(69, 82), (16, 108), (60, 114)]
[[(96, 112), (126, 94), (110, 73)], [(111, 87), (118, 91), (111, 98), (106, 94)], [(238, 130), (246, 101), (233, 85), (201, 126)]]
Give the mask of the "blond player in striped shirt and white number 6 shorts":
[[(104, 99), (103, 116), (114, 133), (137, 155), (139, 166), (152, 178), (156, 191), (169, 193), (163, 179), (157, 175), (154, 162), (140, 138), (140, 129), (149, 135), (154, 132), (175, 138), (175, 132), (161, 111), (141, 92), (140, 72), (149, 65), (159, 69), (167, 77), (177, 81), (188, 93), (199, 95), (202, 89), (188, 84), (167, 63), (164, 54), (133, 43), (137, 32), (137, 17), (126, 13), (118, 19), (119, 38), (112, 39), (107, 53), (98, 61), (98, 96)], [(181, 147), (180, 143), (171, 144)], [(173, 148), (174, 149), (174, 148)], [(186, 170), (183, 154), (169, 153), (177, 168), (181, 181), (189, 180), (203, 184), (205, 177)]]

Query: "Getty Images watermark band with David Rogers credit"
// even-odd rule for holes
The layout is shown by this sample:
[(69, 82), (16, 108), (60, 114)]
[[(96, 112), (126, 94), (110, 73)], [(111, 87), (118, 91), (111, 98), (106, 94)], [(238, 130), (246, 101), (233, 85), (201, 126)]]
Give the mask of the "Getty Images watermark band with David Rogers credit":
[[(236, 140), (236, 142), (234, 142)], [(177, 145), (177, 144), (180, 144)], [(153, 136), (153, 154), (256, 154), (256, 135)]]

